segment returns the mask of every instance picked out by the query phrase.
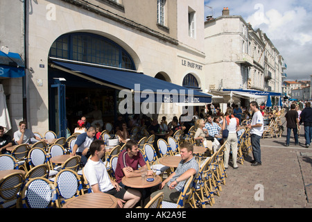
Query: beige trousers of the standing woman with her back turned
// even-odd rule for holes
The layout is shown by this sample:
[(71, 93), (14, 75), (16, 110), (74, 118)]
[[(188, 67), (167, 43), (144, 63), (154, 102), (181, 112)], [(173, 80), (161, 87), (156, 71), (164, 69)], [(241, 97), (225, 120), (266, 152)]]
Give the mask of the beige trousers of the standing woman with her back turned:
[(227, 143), (225, 144), (225, 152), (224, 152), (224, 167), (228, 167), (229, 163), (229, 151), (232, 148), (232, 160), (233, 160), (233, 167), (236, 168), (237, 166), (237, 135), (236, 133), (229, 133), (227, 137)]

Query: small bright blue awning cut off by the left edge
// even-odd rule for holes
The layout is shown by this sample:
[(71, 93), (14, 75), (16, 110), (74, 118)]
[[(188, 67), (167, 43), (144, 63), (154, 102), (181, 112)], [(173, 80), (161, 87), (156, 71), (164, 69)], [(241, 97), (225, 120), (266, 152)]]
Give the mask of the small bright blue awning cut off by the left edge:
[(18, 53), (0, 51), (0, 77), (19, 78), (25, 76), (25, 65)]

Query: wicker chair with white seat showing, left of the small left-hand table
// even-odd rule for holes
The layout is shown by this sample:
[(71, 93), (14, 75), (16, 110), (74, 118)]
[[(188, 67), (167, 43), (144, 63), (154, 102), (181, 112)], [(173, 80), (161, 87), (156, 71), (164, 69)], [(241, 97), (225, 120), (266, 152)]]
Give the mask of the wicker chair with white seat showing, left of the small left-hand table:
[(44, 151), (42, 148), (35, 147), (29, 151), (27, 163), (30, 169), (33, 169), (33, 167), (41, 164), (47, 164), (50, 169), (49, 177), (53, 177), (58, 173), (58, 171), (50, 168), (51, 166), (49, 165), (48, 160), (49, 157), (46, 154), (46, 151)]

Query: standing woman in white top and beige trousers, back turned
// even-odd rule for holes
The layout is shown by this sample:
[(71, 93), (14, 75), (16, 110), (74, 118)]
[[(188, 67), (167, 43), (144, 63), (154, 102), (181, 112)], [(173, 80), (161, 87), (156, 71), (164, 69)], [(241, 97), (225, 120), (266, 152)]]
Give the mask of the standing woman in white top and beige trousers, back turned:
[(233, 160), (233, 168), (237, 169), (237, 130), (239, 130), (239, 118), (234, 117), (234, 111), (232, 108), (227, 108), (227, 112), (225, 112), (225, 120), (222, 123), (222, 130), (229, 130), (229, 135), (227, 136), (227, 142), (225, 144), (225, 153), (224, 153), (224, 167), (228, 168), (229, 163), (229, 151), (232, 148), (232, 160)]

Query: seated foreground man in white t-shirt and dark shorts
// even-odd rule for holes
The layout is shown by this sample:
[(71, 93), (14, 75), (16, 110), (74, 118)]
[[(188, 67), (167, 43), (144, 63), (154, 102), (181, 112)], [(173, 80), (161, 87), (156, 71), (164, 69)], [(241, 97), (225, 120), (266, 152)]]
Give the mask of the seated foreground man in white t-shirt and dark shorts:
[(94, 140), (90, 145), (89, 151), (92, 156), (85, 165), (84, 173), (92, 191), (94, 193), (103, 192), (111, 194), (117, 198), (118, 205), (121, 208), (135, 207), (141, 198), (140, 192), (134, 189), (125, 190), (108, 176), (105, 164), (101, 160), (105, 155), (104, 141), (100, 139)]

